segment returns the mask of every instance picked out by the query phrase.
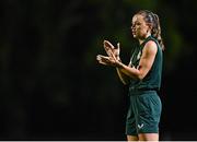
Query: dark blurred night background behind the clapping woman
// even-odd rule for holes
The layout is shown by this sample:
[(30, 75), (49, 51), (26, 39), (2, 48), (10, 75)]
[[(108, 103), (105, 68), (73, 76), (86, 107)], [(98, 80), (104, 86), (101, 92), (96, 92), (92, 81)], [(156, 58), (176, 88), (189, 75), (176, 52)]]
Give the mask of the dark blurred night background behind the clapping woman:
[(161, 140), (197, 140), (196, 0), (1, 0), (0, 140), (126, 140), (127, 86), (96, 62), (103, 40), (128, 62), (132, 15), (160, 16)]

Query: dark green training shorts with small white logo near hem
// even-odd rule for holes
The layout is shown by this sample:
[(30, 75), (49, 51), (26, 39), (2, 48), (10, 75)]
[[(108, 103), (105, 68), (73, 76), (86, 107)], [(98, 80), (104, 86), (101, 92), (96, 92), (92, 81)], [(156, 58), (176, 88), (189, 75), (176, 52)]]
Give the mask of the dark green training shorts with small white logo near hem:
[(162, 104), (155, 91), (129, 93), (130, 104), (126, 119), (126, 134), (159, 133)]

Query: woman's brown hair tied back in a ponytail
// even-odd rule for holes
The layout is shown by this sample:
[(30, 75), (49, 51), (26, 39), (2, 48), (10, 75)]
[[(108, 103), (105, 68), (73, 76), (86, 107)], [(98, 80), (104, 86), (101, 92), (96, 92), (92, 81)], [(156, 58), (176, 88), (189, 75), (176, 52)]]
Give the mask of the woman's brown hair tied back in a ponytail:
[(158, 39), (162, 50), (164, 50), (163, 40), (161, 38), (161, 27), (159, 16), (148, 10), (140, 10), (137, 14), (142, 14), (144, 16), (144, 21), (152, 25), (151, 35)]

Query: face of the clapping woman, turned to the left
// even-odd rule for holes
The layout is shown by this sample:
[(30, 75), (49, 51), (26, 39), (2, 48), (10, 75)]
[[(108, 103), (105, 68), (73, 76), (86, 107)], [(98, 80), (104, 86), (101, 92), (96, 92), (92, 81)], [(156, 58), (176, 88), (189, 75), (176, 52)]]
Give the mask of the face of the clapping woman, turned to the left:
[(144, 39), (150, 34), (150, 26), (146, 23), (142, 15), (136, 14), (131, 24), (131, 33), (135, 38)]

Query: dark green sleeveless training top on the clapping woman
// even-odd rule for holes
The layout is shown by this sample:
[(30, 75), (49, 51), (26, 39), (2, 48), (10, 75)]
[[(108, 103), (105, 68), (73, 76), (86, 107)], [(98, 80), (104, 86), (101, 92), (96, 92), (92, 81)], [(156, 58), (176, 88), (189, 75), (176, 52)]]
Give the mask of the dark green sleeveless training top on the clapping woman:
[(149, 36), (144, 39), (144, 42), (139, 46), (136, 47), (132, 56), (130, 58), (131, 66), (136, 68), (139, 66), (139, 61), (141, 58), (142, 49), (147, 42), (153, 40), (158, 45), (158, 52), (154, 58), (154, 62), (148, 72), (148, 74), (142, 80), (130, 79), (129, 90), (155, 90), (159, 91), (161, 86), (161, 76), (162, 76), (162, 64), (163, 64), (163, 52), (162, 49), (155, 38)]

